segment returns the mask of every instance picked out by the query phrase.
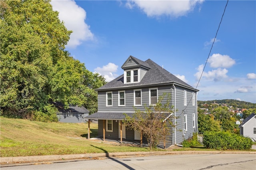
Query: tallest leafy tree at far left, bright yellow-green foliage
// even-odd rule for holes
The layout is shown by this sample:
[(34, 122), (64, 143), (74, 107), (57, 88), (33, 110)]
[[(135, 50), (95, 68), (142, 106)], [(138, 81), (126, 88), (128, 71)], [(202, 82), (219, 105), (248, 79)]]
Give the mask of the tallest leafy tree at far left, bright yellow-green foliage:
[(71, 32), (48, 1), (1, 1), (0, 8), (0, 102), (5, 113), (27, 117), (49, 105), (53, 63)]

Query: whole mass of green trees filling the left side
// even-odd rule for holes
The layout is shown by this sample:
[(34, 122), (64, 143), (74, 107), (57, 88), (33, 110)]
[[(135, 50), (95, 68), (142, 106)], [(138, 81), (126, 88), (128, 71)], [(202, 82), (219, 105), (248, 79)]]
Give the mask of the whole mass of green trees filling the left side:
[[(48, 0), (0, 1), (0, 105), (2, 115), (56, 121), (52, 102), (90, 104), (105, 79), (70, 57), (68, 31)], [(45, 117), (45, 120), (38, 117)], [(55, 114), (56, 115), (56, 114)], [(48, 120), (47, 120), (48, 119)]]

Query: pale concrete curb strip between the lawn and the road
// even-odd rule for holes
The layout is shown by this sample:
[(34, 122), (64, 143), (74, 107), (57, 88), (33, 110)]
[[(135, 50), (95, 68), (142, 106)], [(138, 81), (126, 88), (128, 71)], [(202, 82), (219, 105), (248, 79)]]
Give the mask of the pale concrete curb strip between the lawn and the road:
[(88, 153), (88, 154), (69, 154), (69, 155), (43, 155), (43, 156), (18, 156), (0, 157), (0, 164), (45, 162), (57, 160), (93, 159), (100, 157), (115, 156), (150, 156), (166, 154), (256, 154), (250, 151), (150, 151), (150, 152), (112, 152), (112, 153)]

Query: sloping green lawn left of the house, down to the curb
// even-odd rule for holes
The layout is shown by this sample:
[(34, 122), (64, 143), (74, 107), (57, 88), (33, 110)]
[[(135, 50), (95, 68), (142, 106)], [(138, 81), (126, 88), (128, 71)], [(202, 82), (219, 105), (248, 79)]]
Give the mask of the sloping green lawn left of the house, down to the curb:
[[(87, 140), (86, 123), (43, 123), (1, 117), (0, 125), (1, 157), (148, 151)], [(90, 137), (97, 136), (98, 125), (91, 123), (90, 130)]]

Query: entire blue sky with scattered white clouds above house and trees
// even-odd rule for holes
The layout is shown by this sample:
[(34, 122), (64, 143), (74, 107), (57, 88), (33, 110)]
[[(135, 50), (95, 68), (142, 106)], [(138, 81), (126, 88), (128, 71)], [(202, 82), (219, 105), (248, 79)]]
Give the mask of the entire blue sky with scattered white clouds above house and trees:
[[(107, 81), (132, 55), (196, 87), (227, 1), (53, 0), (75, 59)], [(197, 87), (198, 100), (256, 103), (256, 1), (228, 2)]]

